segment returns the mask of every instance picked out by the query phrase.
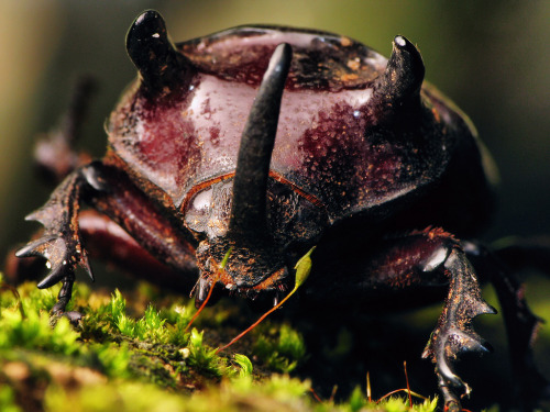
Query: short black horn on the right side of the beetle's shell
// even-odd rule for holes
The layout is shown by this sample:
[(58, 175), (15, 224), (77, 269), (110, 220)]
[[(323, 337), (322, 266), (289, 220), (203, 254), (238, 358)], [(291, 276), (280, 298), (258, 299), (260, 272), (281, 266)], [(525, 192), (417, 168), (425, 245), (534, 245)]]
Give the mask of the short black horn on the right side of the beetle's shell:
[(375, 81), (374, 96), (398, 107), (419, 96), (425, 67), (418, 48), (404, 36), (395, 36), (393, 46), (386, 70)]

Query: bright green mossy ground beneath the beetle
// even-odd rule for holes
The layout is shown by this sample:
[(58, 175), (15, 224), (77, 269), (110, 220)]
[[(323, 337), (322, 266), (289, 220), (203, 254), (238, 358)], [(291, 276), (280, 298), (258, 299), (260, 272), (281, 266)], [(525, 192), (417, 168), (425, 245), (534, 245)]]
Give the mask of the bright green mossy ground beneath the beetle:
[[(226, 325), (234, 305), (207, 309), (186, 331), (193, 301), (145, 283), (122, 296), (91, 292), (79, 282), (68, 310), (85, 316), (73, 327), (65, 318), (52, 324), (55, 288), (37, 290), (30, 282), (15, 291), (1, 285), (4, 412), (409, 410), (406, 393), (376, 403), (359, 387), (342, 401), (316, 399), (309, 380), (289, 375), (308, 354), (287, 323), (265, 322), (216, 354), (239, 332)], [(437, 400), (415, 403), (415, 411), (433, 411)]]

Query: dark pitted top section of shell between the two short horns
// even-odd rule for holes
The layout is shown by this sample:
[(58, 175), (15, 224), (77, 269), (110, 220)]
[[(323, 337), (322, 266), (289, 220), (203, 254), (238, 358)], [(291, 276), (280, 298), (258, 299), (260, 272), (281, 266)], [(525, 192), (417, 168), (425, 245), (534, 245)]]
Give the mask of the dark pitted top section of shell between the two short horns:
[(348, 37), (277, 26), (230, 29), (180, 43), (178, 48), (201, 71), (258, 86), (273, 49), (280, 43), (293, 45), (289, 89), (363, 88), (386, 66), (378, 53)]

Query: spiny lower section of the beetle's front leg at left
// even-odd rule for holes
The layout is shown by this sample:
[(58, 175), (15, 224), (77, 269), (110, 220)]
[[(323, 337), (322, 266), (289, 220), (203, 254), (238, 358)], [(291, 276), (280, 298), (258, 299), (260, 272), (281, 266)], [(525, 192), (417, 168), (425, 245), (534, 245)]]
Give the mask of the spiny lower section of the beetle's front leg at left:
[[(52, 193), (52, 197), (26, 220), (41, 222), (45, 231), (36, 241), (30, 242), (15, 253), (18, 257), (40, 256), (47, 259), (48, 275), (38, 283), (38, 288), (51, 286), (74, 278), (75, 268), (82, 266), (94, 280), (86, 250), (80, 244), (78, 233), (78, 197), (80, 175), (69, 175)], [(69, 296), (70, 298), (70, 296)]]

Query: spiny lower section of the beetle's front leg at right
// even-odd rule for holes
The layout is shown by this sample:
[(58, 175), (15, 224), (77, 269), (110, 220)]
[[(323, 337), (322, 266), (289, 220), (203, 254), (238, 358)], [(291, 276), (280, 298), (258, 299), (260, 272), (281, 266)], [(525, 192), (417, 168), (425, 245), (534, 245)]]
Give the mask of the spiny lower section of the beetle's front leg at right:
[(460, 411), (455, 392), (469, 396), (471, 388), (454, 372), (452, 364), (466, 352), (490, 352), (490, 346), (474, 332), (472, 320), (496, 310), (483, 300), (474, 269), (461, 248), (450, 250), (443, 267), (450, 278), (449, 294), (422, 357), (431, 357), (436, 364), (446, 409)]

